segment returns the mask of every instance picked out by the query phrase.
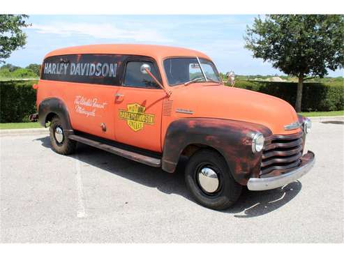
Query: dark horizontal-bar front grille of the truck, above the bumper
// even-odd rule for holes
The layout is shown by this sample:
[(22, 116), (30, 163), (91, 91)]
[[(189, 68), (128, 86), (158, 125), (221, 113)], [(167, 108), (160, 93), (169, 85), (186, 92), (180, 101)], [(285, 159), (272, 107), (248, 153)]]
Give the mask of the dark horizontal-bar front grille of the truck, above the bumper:
[(304, 149), (303, 132), (293, 135), (271, 135), (266, 138), (262, 153), (260, 174), (267, 174), (275, 169), (297, 167)]

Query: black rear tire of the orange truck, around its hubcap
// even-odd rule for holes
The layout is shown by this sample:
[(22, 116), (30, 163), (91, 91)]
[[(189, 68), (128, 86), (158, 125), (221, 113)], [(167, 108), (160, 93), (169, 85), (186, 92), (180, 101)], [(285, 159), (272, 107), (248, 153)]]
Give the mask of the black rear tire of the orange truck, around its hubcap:
[[(52, 144), (53, 151), (62, 155), (69, 155), (75, 153), (77, 143), (66, 137), (66, 133), (63, 131), (62, 124), (63, 123), (59, 116), (54, 116), (52, 118), (52, 121), (50, 122), (50, 143)], [(61, 128), (63, 135), (62, 141), (60, 140), (60, 142), (57, 140), (57, 137), (55, 136), (55, 130), (57, 130), (57, 128)]]

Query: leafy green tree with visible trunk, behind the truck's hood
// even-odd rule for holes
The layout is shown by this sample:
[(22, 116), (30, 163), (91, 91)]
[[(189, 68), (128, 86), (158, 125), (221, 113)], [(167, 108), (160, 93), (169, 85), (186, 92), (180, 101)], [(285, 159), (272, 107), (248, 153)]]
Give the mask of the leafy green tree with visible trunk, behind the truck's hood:
[(270, 61), (287, 75), (298, 77), (295, 109), (301, 111), (306, 77), (324, 77), (343, 68), (343, 15), (267, 15), (247, 26), (245, 47), (253, 57)]

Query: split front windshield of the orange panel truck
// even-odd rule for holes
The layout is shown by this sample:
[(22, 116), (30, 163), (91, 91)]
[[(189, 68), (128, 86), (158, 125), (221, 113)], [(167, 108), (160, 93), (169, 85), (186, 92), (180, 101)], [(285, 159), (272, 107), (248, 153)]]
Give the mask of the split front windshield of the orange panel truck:
[[(214, 63), (207, 59), (200, 59), (200, 63), (208, 81), (220, 82), (220, 77)], [(164, 61), (164, 68), (170, 86), (184, 84), (193, 79), (197, 79), (197, 82), (206, 81), (196, 57), (166, 59)]]

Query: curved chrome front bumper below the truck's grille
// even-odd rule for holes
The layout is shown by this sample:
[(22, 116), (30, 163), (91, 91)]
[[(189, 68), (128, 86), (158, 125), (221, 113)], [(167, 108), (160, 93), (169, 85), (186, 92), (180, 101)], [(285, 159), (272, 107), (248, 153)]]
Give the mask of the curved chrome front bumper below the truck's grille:
[(269, 190), (274, 188), (279, 188), (288, 183), (299, 179), (301, 176), (304, 176), (315, 163), (315, 155), (312, 151), (308, 151), (305, 155), (301, 157), (301, 165), (292, 169), (290, 172), (281, 174), (279, 176), (265, 177), (261, 179), (250, 178), (248, 179), (247, 188), (248, 190), (260, 191), (260, 190)]

